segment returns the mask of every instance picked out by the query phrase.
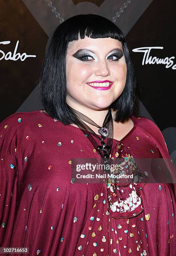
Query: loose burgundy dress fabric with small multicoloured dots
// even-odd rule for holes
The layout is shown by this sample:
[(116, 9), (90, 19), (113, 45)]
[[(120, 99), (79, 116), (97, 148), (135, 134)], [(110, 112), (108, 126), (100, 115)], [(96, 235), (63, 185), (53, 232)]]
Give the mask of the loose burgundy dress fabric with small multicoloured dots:
[[(170, 159), (157, 125), (131, 119), (111, 157)], [(0, 247), (28, 247), (32, 256), (176, 256), (175, 184), (122, 185), (114, 200), (111, 183), (74, 182), (73, 158), (100, 155), (79, 128), (43, 110), (0, 124)]]

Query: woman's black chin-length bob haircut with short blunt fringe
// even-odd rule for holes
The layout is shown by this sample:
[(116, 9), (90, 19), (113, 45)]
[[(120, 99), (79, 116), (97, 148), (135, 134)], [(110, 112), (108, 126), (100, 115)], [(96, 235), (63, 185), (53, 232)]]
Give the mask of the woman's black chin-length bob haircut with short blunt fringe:
[(110, 105), (117, 110), (115, 120), (126, 122), (133, 115), (137, 98), (136, 74), (121, 30), (107, 18), (96, 14), (81, 14), (68, 18), (54, 31), (39, 77), (40, 99), (50, 117), (64, 125), (77, 124), (75, 113), (66, 103), (66, 53), (68, 43), (85, 36), (91, 38), (114, 38), (121, 41), (127, 65), (126, 85), (121, 95)]

